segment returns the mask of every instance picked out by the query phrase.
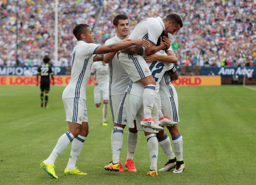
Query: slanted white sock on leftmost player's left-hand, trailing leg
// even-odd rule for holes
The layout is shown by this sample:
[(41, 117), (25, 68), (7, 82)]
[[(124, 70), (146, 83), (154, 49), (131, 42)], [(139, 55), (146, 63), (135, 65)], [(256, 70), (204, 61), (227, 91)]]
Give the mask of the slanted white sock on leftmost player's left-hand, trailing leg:
[(72, 142), (74, 136), (70, 132), (64, 133), (60, 136), (56, 146), (54, 147), (51, 155), (45, 160), (46, 164), (54, 164), (57, 157), (67, 148), (68, 144)]

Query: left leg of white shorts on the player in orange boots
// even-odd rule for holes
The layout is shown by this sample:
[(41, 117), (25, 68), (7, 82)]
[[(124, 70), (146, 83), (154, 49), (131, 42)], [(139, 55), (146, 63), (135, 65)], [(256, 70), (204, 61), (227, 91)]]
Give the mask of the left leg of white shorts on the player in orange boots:
[(133, 120), (141, 107), (143, 107), (142, 97), (125, 93), (118, 106), (115, 123), (134, 128)]

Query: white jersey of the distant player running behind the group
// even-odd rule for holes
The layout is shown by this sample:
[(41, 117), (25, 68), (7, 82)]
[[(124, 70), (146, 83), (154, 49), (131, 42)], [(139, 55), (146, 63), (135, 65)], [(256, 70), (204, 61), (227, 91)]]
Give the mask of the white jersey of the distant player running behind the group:
[(108, 64), (103, 64), (101, 61), (93, 62), (91, 73), (94, 73), (99, 85), (109, 83)]

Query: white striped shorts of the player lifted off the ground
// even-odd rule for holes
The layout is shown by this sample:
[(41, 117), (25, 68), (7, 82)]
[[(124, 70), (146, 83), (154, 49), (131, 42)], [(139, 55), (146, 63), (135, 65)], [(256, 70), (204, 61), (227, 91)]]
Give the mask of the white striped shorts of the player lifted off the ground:
[[(129, 55), (129, 54), (128, 54)], [(151, 75), (148, 64), (140, 55), (129, 55), (129, 59), (120, 60), (125, 71), (133, 82)], [(134, 57), (135, 56), (135, 57)]]

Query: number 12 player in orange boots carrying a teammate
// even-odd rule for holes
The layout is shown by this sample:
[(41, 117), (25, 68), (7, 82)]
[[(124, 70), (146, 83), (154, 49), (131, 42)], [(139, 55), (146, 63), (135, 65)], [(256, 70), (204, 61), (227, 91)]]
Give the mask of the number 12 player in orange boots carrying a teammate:
[[(160, 55), (167, 55), (165, 51), (157, 52)], [(154, 105), (152, 109), (152, 116), (155, 120), (158, 120), (158, 108), (157, 108), (157, 100), (158, 100), (158, 90), (159, 90), (159, 81), (161, 80), (164, 72), (166, 70), (171, 70), (173, 68), (173, 64), (164, 63), (161, 61), (154, 61), (152, 63), (147, 64), (149, 70), (152, 72), (154, 80), (156, 82), (156, 93)], [(157, 176), (157, 155), (158, 155), (158, 144), (156, 139), (156, 134), (158, 131), (152, 130), (150, 128), (141, 128), (139, 120), (143, 117), (143, 106), (142, 106), (142, 97), (143, 97), (144, 88), (140, 82), (132, 82), (129, 83), (128, 88), (124, 94), (122, 103), (120, 103), (118, 107), (118, 111), (115, 117), (114, 131), (111, 134), (111, 147), (112, 147), (112, 162), (108, 166), (105, 166), (106, 170), (110, 171), (118, 171), (119, 170), (119, 156), (121, 147), (123, 144), (123, 131), (124, 127), (127, 125), (129, 128), (135, 127), (133, 123), (133, 119), (136, 118), (136, 126), (140, 131), (144, 131), (146, 139), (148, 141), (148, 151), (150, 155), (150, 170), (148, 175)], [(157, 124), (158, 125), (158, 124)], [(163, 130), (163, 129), (162, 129)]]

